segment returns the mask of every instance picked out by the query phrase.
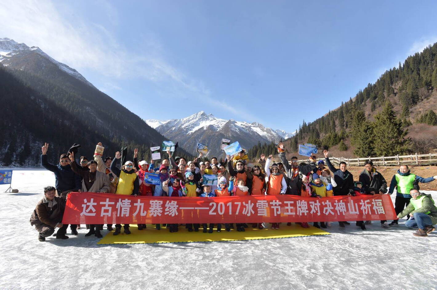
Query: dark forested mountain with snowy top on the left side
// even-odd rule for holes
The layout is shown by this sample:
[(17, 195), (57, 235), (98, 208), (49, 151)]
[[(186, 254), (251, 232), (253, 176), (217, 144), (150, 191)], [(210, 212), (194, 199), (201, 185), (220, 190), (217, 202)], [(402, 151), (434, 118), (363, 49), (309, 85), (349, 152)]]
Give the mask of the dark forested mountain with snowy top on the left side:
[[(91, 158), (98, 142), (105, 156), (127, 146), (128, 157), (138, 148), (139, 158), (149, 160), (149, 147), (166, 140), (75, 69), (9, 38), (0, 38), (0, 96), (2, 166), (38, 166), (45, 142), (52, 162), (73, 143)], [(182, 148), (177, 154), (191, 155)]]

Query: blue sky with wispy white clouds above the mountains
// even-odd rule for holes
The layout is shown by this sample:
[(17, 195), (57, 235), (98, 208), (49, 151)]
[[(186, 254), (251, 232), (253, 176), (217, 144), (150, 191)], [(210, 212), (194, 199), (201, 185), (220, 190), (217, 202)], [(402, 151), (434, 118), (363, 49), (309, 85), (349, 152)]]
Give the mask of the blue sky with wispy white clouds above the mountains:
[(144, 119), (200, 110), (292, 131), (437, 42), (437, 2), (18, 1), (38, 46)]

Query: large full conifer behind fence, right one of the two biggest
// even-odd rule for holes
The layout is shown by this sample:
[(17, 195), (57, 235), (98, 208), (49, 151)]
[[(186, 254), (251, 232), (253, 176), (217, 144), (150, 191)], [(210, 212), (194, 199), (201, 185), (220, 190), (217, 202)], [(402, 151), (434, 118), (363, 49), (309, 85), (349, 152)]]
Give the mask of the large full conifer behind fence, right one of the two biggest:
[(375, 154), (378, 156), (392, 156), (408, 151), (409, 140), (405, 139), (407, 130), (402, 129), (402, 122), (396, 118), (389, 101), (385, 103), (382, 112), (375, 116), (373, 128)]

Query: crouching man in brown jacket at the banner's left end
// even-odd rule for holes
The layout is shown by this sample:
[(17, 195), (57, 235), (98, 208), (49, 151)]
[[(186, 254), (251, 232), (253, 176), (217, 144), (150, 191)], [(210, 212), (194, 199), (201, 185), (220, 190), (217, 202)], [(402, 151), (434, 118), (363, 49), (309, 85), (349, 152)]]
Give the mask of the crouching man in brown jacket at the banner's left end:
[(44, 242), (46, 237), (55, 232), (55, 228), (60, 228), (56, 233), (56, 239), (68, 239), (65, 235), (68, 225), (63, 225), (62, 216), (65, 210), (65, 198), (56, 197), (56, 188), (46, 186), (44, 188), (44, 198), (38, 202), (35, 210), (30, 217), (30, 224), (35, 225), (39, 232), (38, 240)]

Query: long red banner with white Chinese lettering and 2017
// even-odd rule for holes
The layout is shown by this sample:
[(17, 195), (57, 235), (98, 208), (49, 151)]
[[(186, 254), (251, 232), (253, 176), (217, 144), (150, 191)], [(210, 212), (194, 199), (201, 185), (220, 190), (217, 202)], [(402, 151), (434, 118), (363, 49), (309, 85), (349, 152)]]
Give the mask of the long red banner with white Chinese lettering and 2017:
[(395, 217), (392, 199), (387, 194), (329, 198), (295, 195), (170, 198), (73, 192), (68, 195), (62, 223), (337, 222)]

